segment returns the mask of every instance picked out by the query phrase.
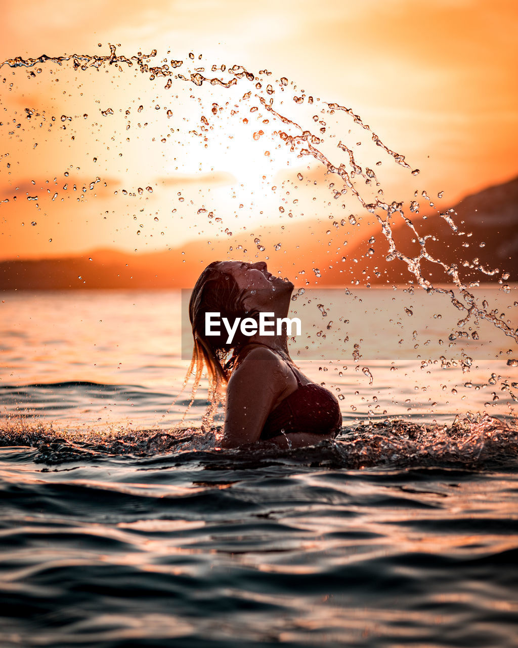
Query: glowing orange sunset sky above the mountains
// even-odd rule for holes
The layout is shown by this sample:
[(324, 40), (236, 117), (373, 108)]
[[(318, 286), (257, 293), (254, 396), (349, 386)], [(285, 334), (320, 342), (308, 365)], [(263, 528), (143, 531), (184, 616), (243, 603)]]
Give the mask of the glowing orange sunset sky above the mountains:
[[(299, 110), (291, 101), (302, 90), (315, 97), (314, 105), (317, 97), (344, 104), (361, 115), (389, 148), (404, 154), (412, 168), (420, 168), (416, 180), (383, 157), (379, 177), (383, 176), (385, 199), (394, 195), (407, 200), (414, 189), (426, 189), (430, 195), (445, 191), (444, 200), (454, 203), (468, 192), (518, 174), (515, 3), (297, 0), (257, 5), (204, 0), (155, 2), (150, 7), (99, 0), (47, 1), (41, 7), (28, 1), (3, 8), (0, 60), (42, 53), (107, 54), (111, 42), (120, 43), (118, 52), (128, 56), (157, 49), (153, 65), (170, 50), (168, 59), (188, 60), (188, 52), (194, 52), (191, 69), (199, 54), (203, 55), (199, 65), (207, 71), (221, 63), (242, 64), (254, 72), (269, 69), (272, 80), (286, 76), (297, 85), (281, 95), (282, 88), (274, 84), (275, 99), (285, 98), (284, 108), (292, 119), (316, 132), (310, 119), (313, 107)], [(218, 234), (231, 240), (228, 231), (250, 229), (267, 218), (275, 226), (289, 224), (289, 210), (280, 213), (280, 206), (291, 207), (299, 218), (314, 218), (336, 207), (328, 205), (330, 194), (322, 188), (322, 174), (315, 165), (308, 170), (307, 159), (293, 158), (286, 168), (286, 152), (273, 150), (276, 141), (268, 143), (269, 133), (258, 142), (251, 139), (260, 123), (248, 115), (251, 121), (243, 126), (242, 104), (239, 121), (232, 121), (227, 111), (219, 122), (210, 122), (214, 133), (207, 150), (199, 137), (188, 135), (189, 130), (199, 132), (200, 116), (216, 100), (210, 87), (199, 91), (200, 103), (188, 98), (185, 84), (176, 90), (180, 95), (176, 100), (171, 94), (176, 86), (164, 94), (164, 80), (150, 84), (133, 71), (76, 75), (56, 65), (41, 67), (34, 79), (27, 79), (25, 69), (14, 74), (6, 66), (0, 70), (0, 81), (6, 78), (0, 86), (0, 200), (10, 200), (0, 203), (0, 259), (100, 247), (150, 251), (175, 247), (198, 235)], [(15, 84), (11, 93), (10, 82)], [(238, 94), (241, 89), (220, 93), (217, 100), (237, 101)], [(173, 109), (174, 119), (164, 117), (164, 102)], [(139, 104), (144, 104), (141, 113)], [(56, 116), (50, 134), (48, 122), (36, 127), (34, 118), (30, 124), (21, 119), (27, 105), (40, 113), (45, 110), (49, 120)], [(153, 110), (156, 105), (161, 113)], [(106, 108), (115, 114), (102, 117), (100, 110)], [(126, 110), (131, 113), (127, 119)], [(88, 118), (83, 120), (83, 113)], [(64, 124), (66, 132), (58, 130), (62, 114), (73, 116)], [(336, 134), (333, 147), (347, 137), (355, 145), (361, 137), (363, 148), (355, 150), (358, 155), (365, 150), (364, 163), (381, 160), (379, 149), (368, 152), (365, 132), (355, 131), (343, 117), (335, 117), (335, 122), (322, 117), (328, 120), (328, 133)], [(12, 119), (21, 122), (20, 130), (14, 130), (17, 124)], [(126, 121), (131, 122), (129, 142)], [(170, 145), (174, 134), (166, 145), (160, 144), (165, 126), (172, 125), (179, 128), (177, 139), (183, 138), (183, 149)], [(273, 122), (268, 127), (273, 130)], [(265, 157), (266, 147), (272, 151)], [(304, 183), (295, 190), (298, 171), (304, 172)], [(100, 182), (89, 189), (97, 177)], [(316, 189), (313, 178), (318, 179)], [(71, 189), (74, 183), (76, 192)], [(146, 191), (147, 186), (153, 193)], [(122, 189), (130, 195), (124, 196)], [(52, 201), (54, 192), (58, 198)], [(28, 201), (32, 195), (38, 200)], [(197, 210), (210, 211), (211, 205), (216, 218), (221, 217), (219, 224), (214, 219), (197, 220)]]

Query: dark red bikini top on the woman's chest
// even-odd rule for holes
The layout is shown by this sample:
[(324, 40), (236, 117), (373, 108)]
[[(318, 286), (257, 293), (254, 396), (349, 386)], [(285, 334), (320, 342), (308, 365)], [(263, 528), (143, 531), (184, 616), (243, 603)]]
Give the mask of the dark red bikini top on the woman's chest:
[(300, 384), (297, 373), (297, 389), (272, 410), (259, 439), (265, 441), (289, 432), (310, 432), (311, 434), (333, 435), (342, 426), (342, 414), (338, 400), (326, 388), (310, 382)]

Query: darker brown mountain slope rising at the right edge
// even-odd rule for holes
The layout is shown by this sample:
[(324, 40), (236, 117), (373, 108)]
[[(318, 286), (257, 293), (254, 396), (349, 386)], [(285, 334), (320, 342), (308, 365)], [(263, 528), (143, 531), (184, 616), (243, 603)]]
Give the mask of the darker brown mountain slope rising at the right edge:
[[(426, 205), (427, 202), (421, 200), (421, 212)], [(432, 211), (428, 206), (423, 215), (405, 213), (411, 217), (418, 235), (429, 237), (425, 244), (429, 255), (447, 266), (455, 264), (466, 283), (498, 281), (504, 273), (510, 275), (506, 281), (518, 281), (518, 178), (466, 196), (451, 208), (453, 213), (445, 216), (451, 216), (457, 231), (452, 229), (447, 218), (441, 216), (445, 207), (442, 209), (443, 212)], [(390, 223), (396, 248), (408, 257), (418, 256), (420, 246), (416, 235), (400, 214), (394, 214)], [(408, 281), (411, 275), (407, 266), (398, 259), (387, 262), (388, 251), (389, 244), (381, 232), (376, 235), (374, 245), (364, 237), (350, 252), (350, 259), (357, 259), (357, 262), (346, 264), (345, 276), (360, 281), (362, 277), (370, 276), (372, 284)], [(450, 281), (439, 264), (428, 260), (422, 261), (422, 273), (434, 282)], [(335, 268), (326, 275), (326, 280), (341, 283), (340, 277), (343, 276), (344, 273)]]

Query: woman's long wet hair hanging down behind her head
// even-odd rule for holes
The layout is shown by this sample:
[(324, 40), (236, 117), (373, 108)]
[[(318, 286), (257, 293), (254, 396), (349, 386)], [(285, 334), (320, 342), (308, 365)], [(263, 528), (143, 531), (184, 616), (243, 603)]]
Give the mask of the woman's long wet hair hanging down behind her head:
[(227, 343), (227, 330), (221, 327), (217, 336), (205, 334), (205, 315), (218, 312), (221, 318), (233, 322), (238, 317), (254, 317), (254, 312), (247, 312), (243, 305), (244, 291), (236, 279), (217, 268), (220, 261), (213, 261), (203, 270), (192, 290), (189, 302), (189, 319), (192, 325), (194, 349), (186, 380), (194, 374), (194, 386), (191, 403), (194, 400), (199, 380), (204, 369), (208, 375), (209, 416), (213, 416), (218, 405), (224, 400), (224, 386), (229, 381), (232, 367), (245, 343), (240, 330), (236, 330), (234, 339)]

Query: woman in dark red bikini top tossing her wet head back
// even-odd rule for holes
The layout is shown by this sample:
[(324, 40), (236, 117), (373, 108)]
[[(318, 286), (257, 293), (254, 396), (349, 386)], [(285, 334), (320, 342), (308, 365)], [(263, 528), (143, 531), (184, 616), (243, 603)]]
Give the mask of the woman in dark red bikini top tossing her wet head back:
[[(227, 384), (225, 424), (221, 446), (234, 448), (256, 441), (298, 447), (332, 439), (342, 416), (328, 389), (311, 382), (293, 364), (287, 351), (286, 329), (247, 336), (235, 327), (230, 340), (221, 325), (207, 328), (207, 314), (219, 321), (273, 313), (286, 318), (293, 284), (267, 272), (264, 262), (214, 261), (192, 291), (189, 316), (194, 352), (189, 374), (196, 367), (195, 386), (207, 367), (209, 398), (214, 413)], [(252, 327), (253, 329), (253, 327)], [(216, 330), (216, 334), (215, 331)], [(265, 330), (263, 331), (263, 333)]]

